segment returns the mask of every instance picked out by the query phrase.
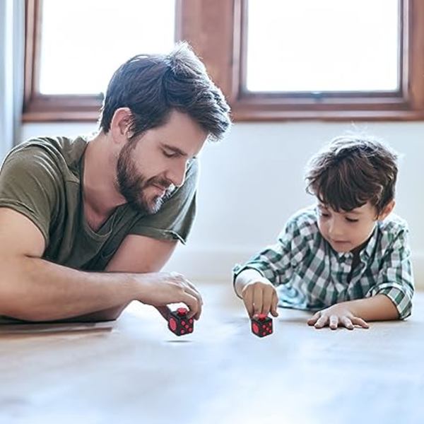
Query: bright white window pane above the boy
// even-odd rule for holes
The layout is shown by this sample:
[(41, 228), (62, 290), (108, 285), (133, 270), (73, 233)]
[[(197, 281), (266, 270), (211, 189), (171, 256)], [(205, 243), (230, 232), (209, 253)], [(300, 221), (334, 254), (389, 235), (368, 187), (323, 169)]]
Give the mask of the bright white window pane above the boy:
[(399, 88), (398, 0), (249, 0), (247, 13), (247, 90)]

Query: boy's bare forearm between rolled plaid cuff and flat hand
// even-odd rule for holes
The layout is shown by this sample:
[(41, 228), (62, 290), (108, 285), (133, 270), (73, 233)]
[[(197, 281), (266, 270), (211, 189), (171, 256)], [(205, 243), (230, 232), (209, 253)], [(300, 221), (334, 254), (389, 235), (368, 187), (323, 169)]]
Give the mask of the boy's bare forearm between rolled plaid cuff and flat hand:
[(399, 319), (399, 312), (396, 306), (386, 295), (350, 300), (346, 302), (346, 305), (348, 305), (355, 317), (365, 319), (365, 321)]

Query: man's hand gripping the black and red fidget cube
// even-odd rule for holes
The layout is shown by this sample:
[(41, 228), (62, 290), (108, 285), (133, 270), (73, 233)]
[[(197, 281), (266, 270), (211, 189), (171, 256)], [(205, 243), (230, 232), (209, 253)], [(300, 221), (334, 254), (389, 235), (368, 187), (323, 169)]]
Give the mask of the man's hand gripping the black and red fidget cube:
[(144, 273), (135, 275), (140, 285), (140, 302), (152, 305), (166, 319), (170, 303), (184, 303), (189, 308), (187, 317), (199, 319), (203, 300), (199, 291), (184, 276), (176, 272)]

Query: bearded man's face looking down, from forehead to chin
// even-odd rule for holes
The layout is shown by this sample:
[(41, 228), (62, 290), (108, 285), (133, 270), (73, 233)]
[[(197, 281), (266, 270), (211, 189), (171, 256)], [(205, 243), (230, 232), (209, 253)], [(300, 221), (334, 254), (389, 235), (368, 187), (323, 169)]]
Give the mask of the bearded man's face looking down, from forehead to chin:
[(184, 183), (189, 160), (201, 151), (206, 136), (187, 114), (171, 112), (166, 124), (127, 141), (119, 152), (119, 192), (143, 213), (158, 212), (172, 190)]

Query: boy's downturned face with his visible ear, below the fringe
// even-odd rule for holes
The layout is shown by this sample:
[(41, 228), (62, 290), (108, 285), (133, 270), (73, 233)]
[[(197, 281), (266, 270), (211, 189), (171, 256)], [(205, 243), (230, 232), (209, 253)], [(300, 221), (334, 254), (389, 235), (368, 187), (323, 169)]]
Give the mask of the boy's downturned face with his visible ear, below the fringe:
[(336, 212), (321, 203), (318, 204), (318, 228), (322, 237), (338, 253), (351, 252), (370, 237), (375, 222), (386, 218), (394, 207), (394, 201), (377, 216), (375, 206), (370, 202), (348, 212)]

